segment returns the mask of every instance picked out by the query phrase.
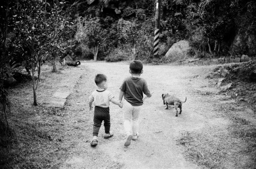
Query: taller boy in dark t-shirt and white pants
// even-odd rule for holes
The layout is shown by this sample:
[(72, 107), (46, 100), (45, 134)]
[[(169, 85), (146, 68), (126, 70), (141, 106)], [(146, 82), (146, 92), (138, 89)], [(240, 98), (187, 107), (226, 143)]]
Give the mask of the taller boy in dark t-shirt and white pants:
[(132, 76), (125, 78), (120, 87), (119, 102), (122, 103), (123, 96), (126, 100), (123, 103), (123, 126), (126, 132), (124, 146), (129, 146), (131, 139), (136, 140), (138, 137), (138, 118), (141, 105), (143, 104), (143, 93), (148, 97), (152, 96), (146, 80), (140, 78), (140, 75), (143, 73), (142, 69), (143, 65), (141, 61), (132, 61), (129, 70)]

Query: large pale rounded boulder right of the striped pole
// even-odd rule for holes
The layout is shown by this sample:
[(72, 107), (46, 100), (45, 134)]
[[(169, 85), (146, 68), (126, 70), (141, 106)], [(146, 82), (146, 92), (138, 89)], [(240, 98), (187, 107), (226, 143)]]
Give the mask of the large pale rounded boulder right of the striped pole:
[(177, 61), (186, 58), (192, 47), (189, 41), (179, 41), (172, 45), (172, 47), (165, 54), (166, 59), (169, 61)]

